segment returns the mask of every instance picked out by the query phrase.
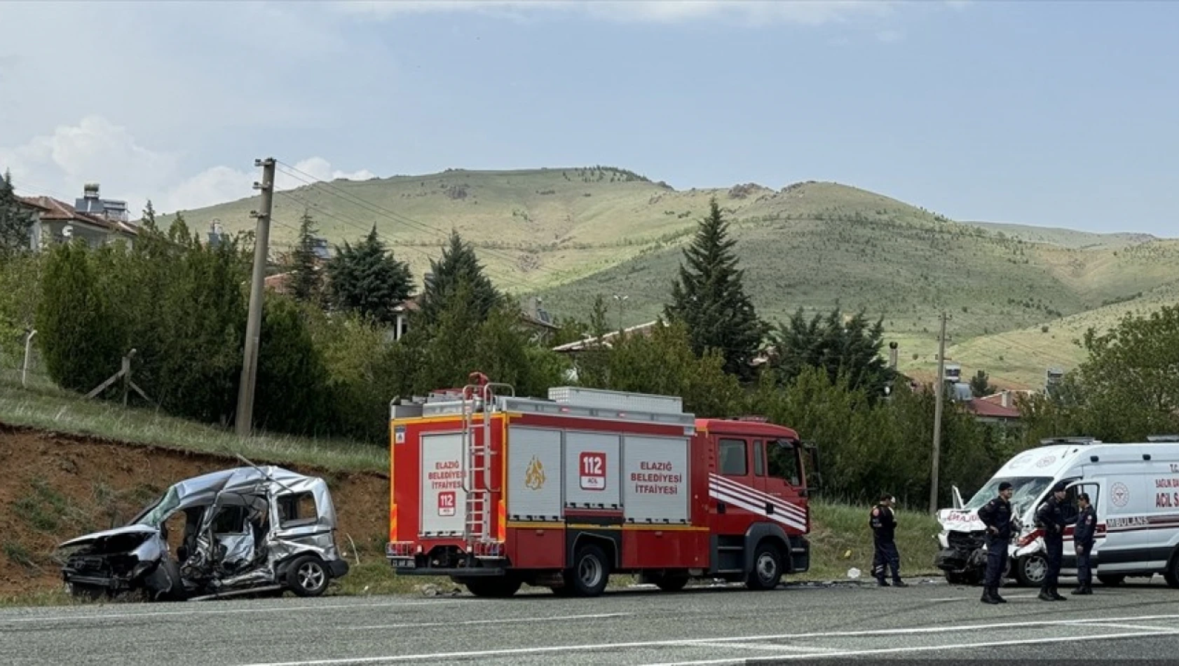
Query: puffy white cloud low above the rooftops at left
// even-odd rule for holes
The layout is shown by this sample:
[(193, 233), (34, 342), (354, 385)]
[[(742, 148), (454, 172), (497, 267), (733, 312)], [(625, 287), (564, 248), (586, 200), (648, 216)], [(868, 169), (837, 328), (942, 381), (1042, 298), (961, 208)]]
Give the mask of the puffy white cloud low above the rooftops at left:
[[(52, 134), (34, 137), (24, 145), (0, 146), (0, 169), (11, 169), (21, 194), (48, 194), (66, 203), (81, 194), (84, 183), (99, 183), (101, 194), (125, 199), (137, 217), (147, 199), (158, 212), (192, 210), (250, 197), (261, 170), (213, 166), (185, 177), (179, 154), (140, 145), (126, 130), (100, 116), (78, 125), (57, 127)], [(275, 187), (294, 190), (309, 180), (345, 178), (367, 180), (368, 170), (347, 172), (322, 157), (292, 163), (297, 176), (278, 170)]]

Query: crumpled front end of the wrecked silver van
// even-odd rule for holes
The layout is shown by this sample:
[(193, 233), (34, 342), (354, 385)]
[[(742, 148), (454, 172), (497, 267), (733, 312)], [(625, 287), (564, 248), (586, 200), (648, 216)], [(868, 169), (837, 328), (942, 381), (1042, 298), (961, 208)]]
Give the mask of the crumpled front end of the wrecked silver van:
[(131, 525), (66, 541), (59, 547), (61, 576), (77, 596), (141, 594), (149, 600), (174, 599), (180, 573), (167, 556), (159, 529)]

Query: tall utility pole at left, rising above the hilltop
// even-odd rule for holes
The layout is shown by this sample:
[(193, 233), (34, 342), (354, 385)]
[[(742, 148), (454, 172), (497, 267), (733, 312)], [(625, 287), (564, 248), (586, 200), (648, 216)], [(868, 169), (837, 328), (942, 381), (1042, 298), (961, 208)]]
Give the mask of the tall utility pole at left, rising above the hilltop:
[(250, 282), (250, 315), (245, 323), (245, 349), (242, 354), (242, 382), (237, 390), (237, 435), (249, 437), (253, 422), (253, 385), (258, 370), (258, 339), (262, 337), (262, 297), (266, 277), (270, 245), (270, 211), (275, 199), (275, 158), (253, 160), (262, 167), (262, 183), (253, 189), (262, 191), (262, 212), (250, 211), (258, 220), (253, 238), (253, 279)]

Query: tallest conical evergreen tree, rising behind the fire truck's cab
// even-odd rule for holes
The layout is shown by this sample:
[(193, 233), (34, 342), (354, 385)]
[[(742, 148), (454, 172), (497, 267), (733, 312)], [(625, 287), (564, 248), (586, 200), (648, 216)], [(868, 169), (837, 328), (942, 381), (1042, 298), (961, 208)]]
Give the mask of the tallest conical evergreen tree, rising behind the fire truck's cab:
[(716, 198), (710, 205), (709, 216), (684, 250), (687, 265), (680, 264), (666, 315), (687, 327), (697, 356), (716, 350), (724, 357), (726, 372), (747, 380), (753, 375), (750, 362), (769, 328), (745, 294), (745, 271), (737, 268), (732, 251), (737, 242), (729, 238), (729, 223)]

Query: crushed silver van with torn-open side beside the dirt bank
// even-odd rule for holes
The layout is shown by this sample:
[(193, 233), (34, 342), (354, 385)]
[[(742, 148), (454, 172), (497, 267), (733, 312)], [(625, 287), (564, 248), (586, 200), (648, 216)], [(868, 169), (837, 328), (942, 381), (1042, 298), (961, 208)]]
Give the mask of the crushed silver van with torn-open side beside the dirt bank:
[(176, 483), (126, 526), (58, 548), (61, 576), (78, 596), (318, 596), (348, 573), (335, 532), (322, 479), (251, 466)]

